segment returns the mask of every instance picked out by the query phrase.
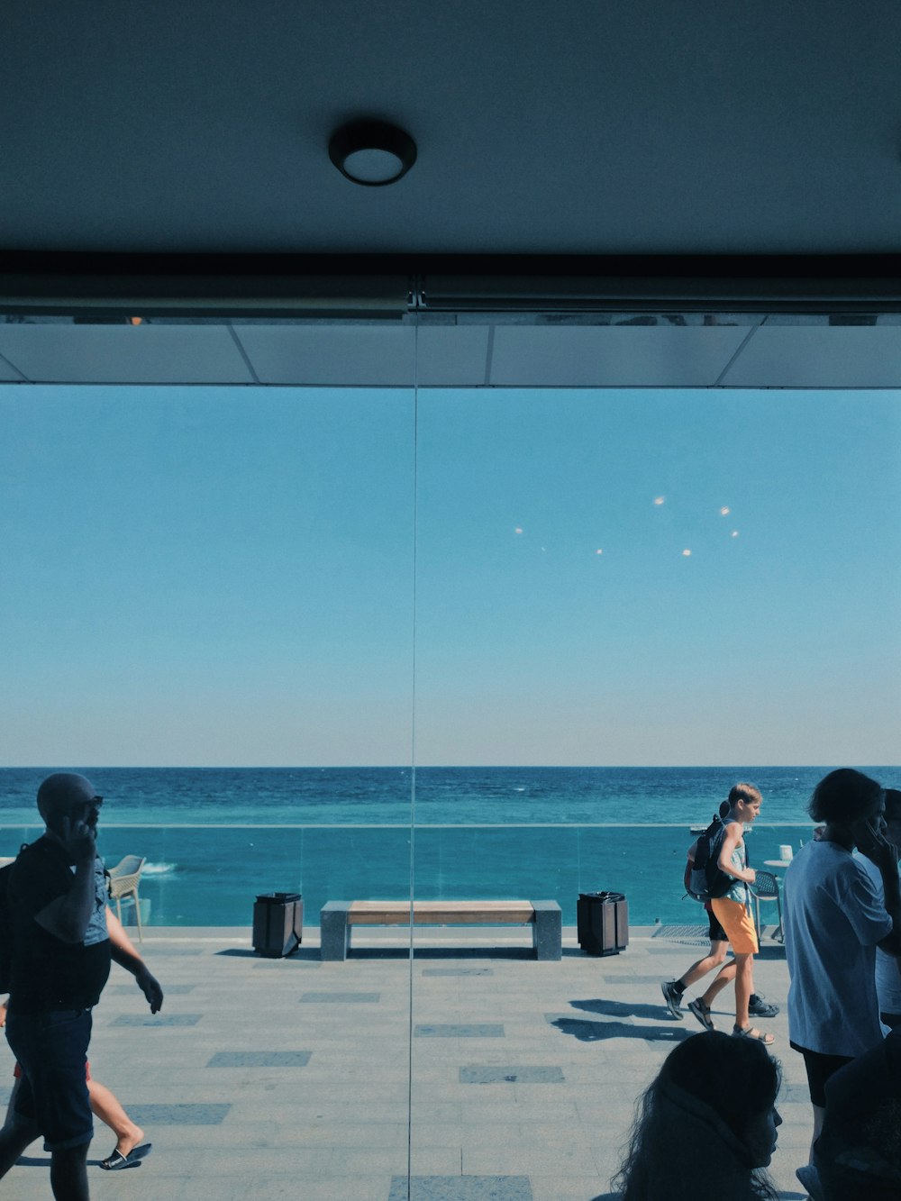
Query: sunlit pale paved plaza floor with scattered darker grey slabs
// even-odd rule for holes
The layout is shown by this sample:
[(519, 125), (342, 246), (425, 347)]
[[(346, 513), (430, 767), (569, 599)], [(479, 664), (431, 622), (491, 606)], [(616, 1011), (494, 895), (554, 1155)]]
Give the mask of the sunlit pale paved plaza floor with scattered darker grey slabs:
[[(139, 1169), (103, 1172), (115, 1140), (99, 1124), (93, 1196), (407, 1201), (408, 1171), (410, 1201), (603, 1196), (636, 1097), (700, 1029), (669, 1017), (660, 992), (700, 943), (639, 928), (621, 955), (595, 958), (563, 936), (555, 963), (530, 957), (527, 930), (417, 932), (411, 981), (390, 931), (354, 936), (345, 963), (320, 962), (316, 928), (288, 960), (253, 955), (249, 930), (147, 931), (163, 1011), (151, 1017), (114, 967), (91, 1069), (154, 1149)], [(784, 1069), (772, 1175), (788, 1201), (805, 1196), (794, 1169), (811, 1111), (788, 1047), (784, 954), (770, 939), (756, 982), (782, 1006), (758, 1024), (776, 1034)], [(732, 996), (715, 1015), (727, 1030)], [(0, 1191), (49, 1197), (47, 1163), (35, 1143)]]

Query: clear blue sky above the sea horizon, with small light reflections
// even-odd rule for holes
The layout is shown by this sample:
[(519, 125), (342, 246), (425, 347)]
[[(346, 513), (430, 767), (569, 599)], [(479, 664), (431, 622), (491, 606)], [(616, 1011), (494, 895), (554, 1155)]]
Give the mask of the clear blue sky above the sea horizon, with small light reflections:
[(895, 393), (11, 386), (0, 430), (0, 764), (406, 763), (413, 707), (420, 763), (899, 759)]

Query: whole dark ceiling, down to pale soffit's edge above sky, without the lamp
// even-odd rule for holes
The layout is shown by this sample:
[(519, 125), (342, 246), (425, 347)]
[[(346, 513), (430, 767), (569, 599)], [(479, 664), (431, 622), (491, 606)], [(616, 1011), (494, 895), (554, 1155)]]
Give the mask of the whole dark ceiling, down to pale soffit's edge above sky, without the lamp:
[[(0, 380), (406, 382), (420, 324), (435, 384), (901, 386), (896, 0), (6, 0), (2, 44)], [(399, 183), (329, 161), (359, 116)]]

